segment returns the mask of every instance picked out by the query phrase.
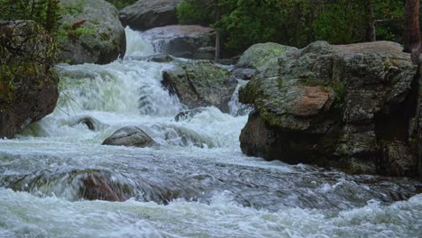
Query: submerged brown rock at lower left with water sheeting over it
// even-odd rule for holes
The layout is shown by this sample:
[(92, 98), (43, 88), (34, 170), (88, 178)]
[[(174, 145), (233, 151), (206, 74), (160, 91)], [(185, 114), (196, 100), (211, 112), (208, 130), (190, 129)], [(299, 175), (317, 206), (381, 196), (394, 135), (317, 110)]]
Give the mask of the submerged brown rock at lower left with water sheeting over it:
[(49, 169), (7, 179), (6, 188), (35, 195), (62, 197), (69, 201), (105, 200), (123, 202), (134, 196), (133, 183), (105, 169)]

